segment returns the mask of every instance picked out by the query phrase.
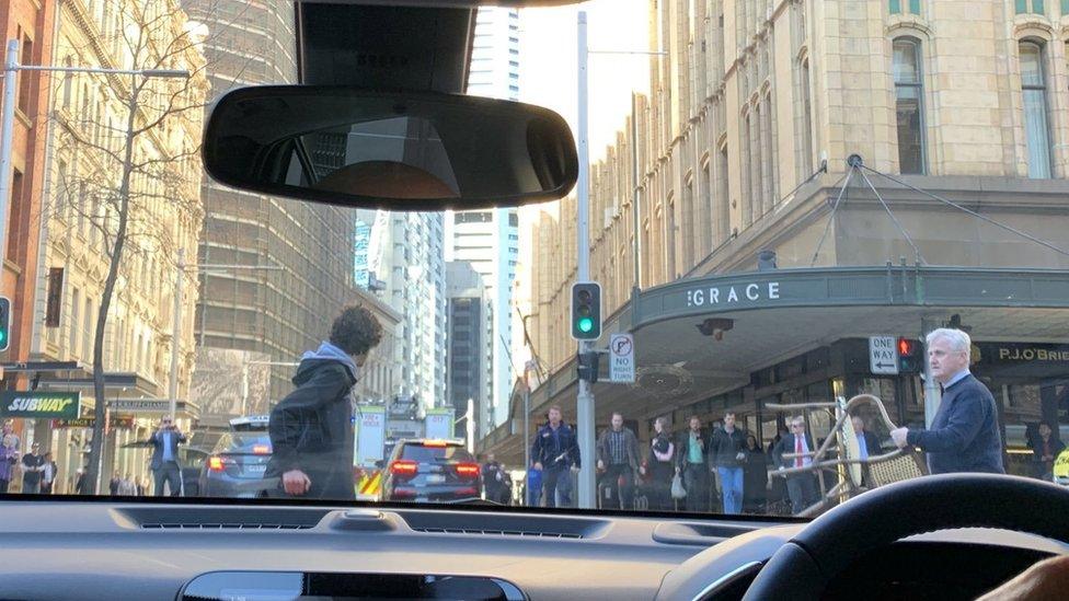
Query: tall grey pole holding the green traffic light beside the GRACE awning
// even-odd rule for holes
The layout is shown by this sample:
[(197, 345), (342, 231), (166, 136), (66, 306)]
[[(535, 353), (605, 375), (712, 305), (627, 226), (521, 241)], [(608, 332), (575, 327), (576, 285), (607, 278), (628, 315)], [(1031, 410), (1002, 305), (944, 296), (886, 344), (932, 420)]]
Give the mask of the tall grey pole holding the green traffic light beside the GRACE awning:
[[(578, 245), (576, 247), (578, 281), (589, 281), (590, 277), (590, 149), (587, 140), (587, 59), (589, 48), (586, 38), (586, 11), (578, 14), (578, 153), (579, 176), (576, 183), (576, 211)], [(582, 340), (578, 351), (588, 352), (594, 344)], [(597, 460), (594, 456), (594, 391), (590, 382), (579, 380), (579, 392), (576, 396), (576, 432), (579, 439), (579, 454), (583, 467), (579, 470), (578, 501), (583, 509), (594, 509), (595, 505), (595, 472)]]

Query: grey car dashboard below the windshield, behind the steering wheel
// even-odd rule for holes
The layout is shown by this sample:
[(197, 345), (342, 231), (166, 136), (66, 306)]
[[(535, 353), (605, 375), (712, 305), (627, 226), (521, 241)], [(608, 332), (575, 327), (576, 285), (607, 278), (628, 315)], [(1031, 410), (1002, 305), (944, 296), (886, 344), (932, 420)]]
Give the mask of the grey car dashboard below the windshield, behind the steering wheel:
[[(3, 599), (739, 599), (804, 525), (502, 507), (115, 500), (10, 500), (2, 513)], [(941, 600), (965, 599), (1067, 552), (1004, 531), (926, 534), (860, 562), (828, 593), (852, 596), (851, 578), (869, 582), (869, 597), (938, 592), (938, 553), (954, 566), (944, 581), (957, 587)]]

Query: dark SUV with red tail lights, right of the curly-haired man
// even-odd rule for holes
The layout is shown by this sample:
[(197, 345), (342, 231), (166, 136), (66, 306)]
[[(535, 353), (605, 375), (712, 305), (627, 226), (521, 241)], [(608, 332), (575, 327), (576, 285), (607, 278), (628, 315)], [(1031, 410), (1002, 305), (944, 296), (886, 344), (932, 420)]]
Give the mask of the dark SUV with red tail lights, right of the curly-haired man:
[(461, 442), (402, 440), (387, 462), (382, 500), (457, 501), (479, 498), (480, 466)]

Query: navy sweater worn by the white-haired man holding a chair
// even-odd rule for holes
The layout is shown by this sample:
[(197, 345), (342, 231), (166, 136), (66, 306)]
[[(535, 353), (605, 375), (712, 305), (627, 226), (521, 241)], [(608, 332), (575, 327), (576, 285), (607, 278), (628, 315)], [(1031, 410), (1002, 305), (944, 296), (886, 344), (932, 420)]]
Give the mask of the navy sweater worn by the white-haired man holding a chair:
[(909, 430), (907, 442), (928, 452), (932, 474), (1005, 473), (995, 397), (972, 374), (943, 391), (932, 427)]

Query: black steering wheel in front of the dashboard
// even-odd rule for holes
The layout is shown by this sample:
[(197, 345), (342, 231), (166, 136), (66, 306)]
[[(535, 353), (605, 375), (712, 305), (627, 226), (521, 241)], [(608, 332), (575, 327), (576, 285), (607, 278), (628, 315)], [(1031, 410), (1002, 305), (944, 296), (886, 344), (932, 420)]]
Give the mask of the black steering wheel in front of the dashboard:
[(880, 487), (809, 522), (772, 555), (743, 599), (819, 599), (831, 578), (870, 551), (913, 534), (976, 527), (1069, 542), (1069, 490), (993, 474)]

